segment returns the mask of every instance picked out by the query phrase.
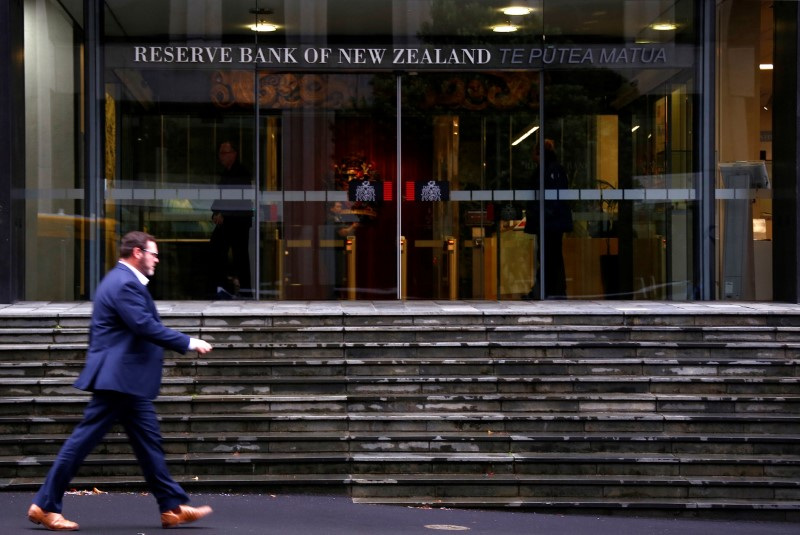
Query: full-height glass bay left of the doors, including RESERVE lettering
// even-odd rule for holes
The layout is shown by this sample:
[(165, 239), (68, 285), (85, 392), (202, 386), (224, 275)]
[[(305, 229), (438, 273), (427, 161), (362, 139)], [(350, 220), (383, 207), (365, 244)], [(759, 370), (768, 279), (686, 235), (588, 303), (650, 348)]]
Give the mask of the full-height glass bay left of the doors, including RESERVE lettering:
[(244, 3), (105, 3), (104, 209), (120, 236), (158, 238), (160, 299), (254, 295), (255, 77), (220, 68), (223, 43), (254, 42), (248, 17)]

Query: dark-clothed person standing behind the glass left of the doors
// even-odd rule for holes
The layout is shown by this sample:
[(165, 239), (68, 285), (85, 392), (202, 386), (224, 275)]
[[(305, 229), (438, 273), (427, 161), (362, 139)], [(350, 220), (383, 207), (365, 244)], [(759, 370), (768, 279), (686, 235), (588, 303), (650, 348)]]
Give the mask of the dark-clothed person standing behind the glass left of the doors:
[[(253, 205), (249, 200), (226, 198), (226, 190), (241, 190), (253, 185), (250, 171), (239, 161), (236, 146), (224, 141), (219, 146), (222, 165), (219, 186), (220, 199), (211, 205), (211, 234), (209, 259), (212, 294), (220, 299), (252, 296), (250, 281), (250, 227), (253, 226)], [(238, 197), (238, 192), (234, 191)]]

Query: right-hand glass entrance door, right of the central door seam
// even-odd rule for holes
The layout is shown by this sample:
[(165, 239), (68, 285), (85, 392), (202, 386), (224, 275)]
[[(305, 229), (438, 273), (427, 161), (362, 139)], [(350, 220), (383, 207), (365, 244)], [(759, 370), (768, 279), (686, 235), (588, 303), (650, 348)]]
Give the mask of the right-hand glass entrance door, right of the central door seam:
[(418, 74), (402, 88), (402, 297), (527, 294), (538, 73)]

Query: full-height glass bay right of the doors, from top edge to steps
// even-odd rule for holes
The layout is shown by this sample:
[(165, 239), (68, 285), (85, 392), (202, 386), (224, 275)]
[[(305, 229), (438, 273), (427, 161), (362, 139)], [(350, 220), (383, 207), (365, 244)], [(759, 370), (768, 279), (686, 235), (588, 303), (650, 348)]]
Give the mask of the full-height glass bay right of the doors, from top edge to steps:
[(552, 1), (543, 20), (531, 297), (695, 298), (694, 2)]

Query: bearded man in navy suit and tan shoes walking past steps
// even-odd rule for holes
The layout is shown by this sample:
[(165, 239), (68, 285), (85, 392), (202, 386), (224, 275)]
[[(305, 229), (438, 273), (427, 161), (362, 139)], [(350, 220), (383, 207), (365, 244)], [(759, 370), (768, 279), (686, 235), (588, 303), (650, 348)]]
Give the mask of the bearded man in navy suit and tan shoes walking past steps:
[(167, 469), (153, 405), (161, 387), (164, 348), (208, 353), (211, 345), (161, 323), (146, 288), (156, 264), (155, 238), (129, 232), (122, 238), (119, 263), (97, 288), (86, 365), (74, 385), (92, 392), (92, 399), (28, 509), (28, 519), (35, 524), (53, 531), (78, 529), (78, 524), (61, 515), (64, 492), (83, 460), (116, 422), (124, 427), (158, 501), (162, 527), (211, 513), (208, 506), (185, 505), (189, 496)]

